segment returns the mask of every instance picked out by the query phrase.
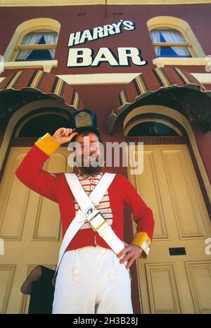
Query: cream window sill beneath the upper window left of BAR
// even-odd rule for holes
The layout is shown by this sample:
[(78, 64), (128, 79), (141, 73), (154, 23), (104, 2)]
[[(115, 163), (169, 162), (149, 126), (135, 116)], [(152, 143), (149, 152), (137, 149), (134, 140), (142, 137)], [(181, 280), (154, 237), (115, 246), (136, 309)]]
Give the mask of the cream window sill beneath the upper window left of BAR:
[(4, 70), (14, 70), (17, 68), (43, 68), (44, 72), (51, 72), (52, 68), (58, 66), (58, 61), (6, 61)]

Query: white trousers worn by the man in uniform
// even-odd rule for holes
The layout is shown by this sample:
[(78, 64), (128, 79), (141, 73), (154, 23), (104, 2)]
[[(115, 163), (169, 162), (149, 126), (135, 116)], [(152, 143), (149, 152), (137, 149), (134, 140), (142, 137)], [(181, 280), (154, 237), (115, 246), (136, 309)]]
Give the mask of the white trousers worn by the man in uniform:
[(56, 278), (53, 313), (133, 313), (129, 270), (107, 248), (67, 251)]

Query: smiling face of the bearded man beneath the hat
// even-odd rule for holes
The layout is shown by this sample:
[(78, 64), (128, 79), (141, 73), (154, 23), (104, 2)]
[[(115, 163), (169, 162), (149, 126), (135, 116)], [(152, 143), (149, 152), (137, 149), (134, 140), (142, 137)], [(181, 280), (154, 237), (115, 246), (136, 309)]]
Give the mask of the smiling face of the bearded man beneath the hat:
[(81, 159), (82, 166), (93, 166), (100, 155), (100, 144), (97, 135), (94, 132), (89, 132), (86, 135), (79, 134), (75, 142), (79, 143), (75, 153), (76, 160)]

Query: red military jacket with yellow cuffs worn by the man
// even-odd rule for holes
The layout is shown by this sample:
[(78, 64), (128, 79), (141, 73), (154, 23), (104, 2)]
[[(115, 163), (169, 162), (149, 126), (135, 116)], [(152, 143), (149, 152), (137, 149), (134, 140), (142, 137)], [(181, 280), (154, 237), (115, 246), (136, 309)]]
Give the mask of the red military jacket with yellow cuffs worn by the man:
[[(63, 236), (68, 229), (70, 222), (74, 219), (77, 211), (77, 203), (72, 195), (72, 191), (65, 179), (65, 174), (49, 173), (43, 170), (45, 161), (56, 151), (60, 144), (50, 134), (46, 134), (42, 139), (35, 142), (34, 146), (27, 153), (22, 163), (20, 163), (15, 175), (30, 189), (36, 191), (41, 196), (58, 203), (63, 226)], [(87, 177), (85, 177), (87, 179)], [(88, 177), (90, 178), (90, 176)], [(93, 177), (94, 178), (94, 177)], [(81, 177), (80, 180), (84, 180)], [(82, 183), (82, 182), (81, 182)], [(123, 241), (123, 209), (128, 206), (132, 211), (133, 220), (136, 222), (136, 235), (132, 244), (143, 248), (143, 258), (148, 256), (153, 237), (153, 212), (137, 194), (136, 189), (123, 175), (117, 174), (108, 188), (106, 203), (108, 220), (117, 236)], [(102, 200), (103, 201), (103, 200)], [(103, 208), (99, 203), (99, 210)], [(104, 211), (106, 208), (104, 206)], [(70, 242), (67, 251), (82, 248), (84, 246), (101, 246), (110, 248), (97, 232), (92, 229), (80, 229)]]

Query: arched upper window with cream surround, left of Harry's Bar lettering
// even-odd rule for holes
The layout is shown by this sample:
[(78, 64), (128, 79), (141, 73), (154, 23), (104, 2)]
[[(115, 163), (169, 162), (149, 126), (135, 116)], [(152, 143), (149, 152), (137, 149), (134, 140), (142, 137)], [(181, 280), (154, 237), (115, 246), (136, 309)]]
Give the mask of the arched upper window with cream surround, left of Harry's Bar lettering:
[(51, 18), (34, 18), (20, 24), (4, 53), (4, 61), (52, 60), (60, 23)]

